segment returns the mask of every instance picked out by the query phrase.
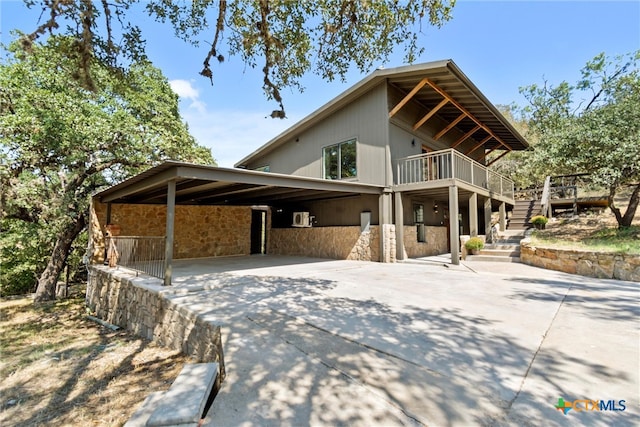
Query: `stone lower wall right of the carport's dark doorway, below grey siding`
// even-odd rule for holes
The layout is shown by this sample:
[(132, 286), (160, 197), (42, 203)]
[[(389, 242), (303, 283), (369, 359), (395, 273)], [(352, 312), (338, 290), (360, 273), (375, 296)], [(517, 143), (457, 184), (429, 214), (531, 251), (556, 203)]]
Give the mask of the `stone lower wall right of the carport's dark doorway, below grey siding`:
[(380, 227), (272, 228), (268, 246), (274, 255), (380, 261)]

